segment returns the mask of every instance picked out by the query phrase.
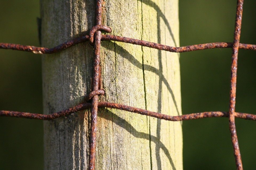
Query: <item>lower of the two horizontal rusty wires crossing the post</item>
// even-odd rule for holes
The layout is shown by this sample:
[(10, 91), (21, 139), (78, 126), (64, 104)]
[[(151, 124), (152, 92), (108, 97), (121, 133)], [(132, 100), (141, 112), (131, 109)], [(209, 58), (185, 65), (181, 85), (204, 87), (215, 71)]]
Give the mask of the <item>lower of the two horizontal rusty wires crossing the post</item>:
[[(25, 112), (14, 112), (14, 111), (0, 111), (0, 116), (7, 117), (19, 117), (19, 118), (29, 118), (29, 119), (39, 119), (39, 120), (53, 120), (62, 116), (67, 116), (68, 114), (78, 112), (81, 110), (91, 108), (91, 103), (83, 103), (72, 108), (52, 113), (49, 115), (45, 114), (35, 114), (35, 113), (25, 113)], [(185, 120), (193, 120), (193, 119), (201, 119), (207, 117), (229, 117), (229, 112), (202, 112), (202, 113), (192, 113), (192, 114), (184, 114), (181, 116), (169, 116), (157, 112), (151, 112), (144, 109), (131, 107), (123, 104), (110, 103), (110, 102), (98, 102), (99, 108), (111, 108), (111, 109), (119, 109), (123, 111), (138, 113), (146, 116), (155, 117), (158, 119), (163, 119), (167, 121), (185, 121)], [(247, 114), (247, 113), (238, 113), (235, 112), (235, 118), (241, 118), (246, 120), (256, 120), (255, 114)]]

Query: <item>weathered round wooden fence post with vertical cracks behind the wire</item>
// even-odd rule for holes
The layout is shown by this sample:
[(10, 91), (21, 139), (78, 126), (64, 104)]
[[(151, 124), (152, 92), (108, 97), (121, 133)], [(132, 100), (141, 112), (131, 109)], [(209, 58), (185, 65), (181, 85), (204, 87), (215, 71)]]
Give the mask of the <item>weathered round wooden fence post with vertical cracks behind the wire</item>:
[[(95, 1), (41, 0), (42, 46), (81, 35), (95, 23)], [(178, 0), (105, 0), (113, 35), (179, 46)], [(83, 101), (91, 89), (88, 42), (43, 55), (44, 113)], [(101, 101), (181, 115), (179, 55), (113, 41), (101, 46)], [(88, 169), (89, 111), (44, 122), (45, 169)], [(182, 169), (181, 122), (99, 109), (96, 169)]]

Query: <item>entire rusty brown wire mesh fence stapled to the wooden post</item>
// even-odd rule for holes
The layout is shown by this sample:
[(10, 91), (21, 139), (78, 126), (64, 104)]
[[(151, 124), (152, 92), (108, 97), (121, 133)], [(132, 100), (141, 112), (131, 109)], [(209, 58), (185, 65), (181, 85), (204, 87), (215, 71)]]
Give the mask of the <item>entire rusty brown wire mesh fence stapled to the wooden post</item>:
[[(236, 167), (239, 170), (242, 170), (242, 160), (241, 154), (238, 145), (237, 133), (235, 128), (235, 118), (242, 118), (247, 120), (256, 120), (256, 115), (247, 114), (247, 113), (238, 113), (235, 112), (235, 97), (236, 97), (236, 83), (237, 83), (237, 59), (238, 59), (238, 49), (246, 49), (246, 50), (256, 50), (256, 45), (251, 44), (241, 44), (240, 33), (241, 33), (241, 23), (242, 23), (242, 9), (243, 9), (243, 0), (237, 1), (237, 10), (236, 10), (236, 19), (235, 19), (235, 31), (234, 31), (234, 41), (233, 43), (208, 43), (208, 44), (198, 44), (191, 46), (183, 46), (183, 47), (171, 47), (167, 45), (152, 43), (148, 41), (142, 41), (137, 39), (131, 39), (127, 37), (114, 36), (114, 35), (102, 35), (101, 31), (104, 30), (107, 33), (111, 33), (111, 29), (105, 25), (101, 24), (102, 21), (102, 0), (97, 0), (96, 5), (96, 25), (91, 28), (90, 34), (86, 36), (79, 37), (74, 40), (70, 40), (66, 43), (60, 44), (54, 48), (42, 48), (35, 46), (26, 46), (26, 45), (18, 45), (18, 44), (8, 44), (8, 43), (0, 43), (0, 48), (2, 49), (13, 49), (20, 50), (26, 52), (33, 52), (35, 54), (52, 54), (69, 48), (72, 45), (82, 43), (84, 41), (89, 41), (91, 45), (94, 45), (94, 64), (93, 64), (93, 86), (90, 94), (86, 96), (87, 103), (79, 104), (72, 108), (49, 114), (34, 114), (34, 113), (24, 113), (24, 112), (14, 112), (14, 111), (0, 111), (0, 116), (8, 116), (8, 117), (21, 117), (21, 118), (30, 118), (30, 119), (39, 119), (39, 120), (52, 120), (55, 118), (59, 118), (62, 116), (66, 116), (68, 114), (81, 111), (84, 109), (91, 108), (91, 126), (90, 126), (90, 140), (89, 140), (89, 170), (95, 169), (95, 146), (96, 146), (96, 125), (97, 125), (97, 111), (98, 108), (114, 108), (120, 109), (124, 111), (134, 112), (142, 115), (147, 115), (151, 117), (155, 117), (158, 119), (164, 119), (167, 121), (184, 121), (184, 120), (192, 120), (199, 118), (207, 118), (207, 117), (228, 117), (229, 118), (229, 130), (231, 134), (231, 141), (234, 150), (234, 157)], [(168, 52), (189, 52), (195, 50), (203, 50), (203, 49), (212, 49), (212, 48), (232, 48), (232, 59), (231, 59), (231, 74), (230, 74), (230, 100), (229, 100), (229, 112), (202, 112), (202, 113), (193, 113), (186, 114), (182, 116), (168, 116), (161, 113), (151, 112), (144, 109), (139, 109), (127, 105), (110, 103), (110, 102), (98, 102), (98, 95), (105, 95), (105, 91), (99, 89), (99, 54), (101, 41), (119, 41), (123, 43), (130, 43), (135, 45), (146, 46), (150, 48), (155, 48), (158, 50), (165, 50)]]

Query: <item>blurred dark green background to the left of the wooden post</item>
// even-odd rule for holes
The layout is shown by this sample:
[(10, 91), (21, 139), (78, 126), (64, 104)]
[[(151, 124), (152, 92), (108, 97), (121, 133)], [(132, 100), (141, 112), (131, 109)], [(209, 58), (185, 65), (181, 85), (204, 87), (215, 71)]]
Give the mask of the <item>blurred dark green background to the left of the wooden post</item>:
[[(39, 1), (0, 1), (0, 42), (39, 46)], [(0, 110), (42, 113), (41, 56), (0, 49)], [(43, 169), (43, 122), (0, 117), (0, 169)]]

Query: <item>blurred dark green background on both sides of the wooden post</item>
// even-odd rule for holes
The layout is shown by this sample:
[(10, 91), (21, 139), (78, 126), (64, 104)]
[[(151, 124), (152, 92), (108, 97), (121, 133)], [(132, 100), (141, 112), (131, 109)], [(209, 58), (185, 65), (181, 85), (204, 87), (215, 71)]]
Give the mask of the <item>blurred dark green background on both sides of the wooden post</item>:
[[(236, 0), (180, 0), (181, 46), (232, 42)], [(245, 0), (241, 43), (256, 44)], [(166, 14), (168, 15), (168, 14)], [(0, 1), (0, 42), (39, 46), (39, 1)], [(181, 53), (183, 114), (228, 111), (231, 49)], [(256, 111), (256, 52), (239, 50), (236, 111)], [(0, 110), (42, 113), (41, 56), (0, 50)], [(256, 167), (256, 122), (236, 119), (244, 169)], [(235, 169), (227, 118), (183, 122), (184, 170)], [(0, 117), (0, 169), (43, 169), (42, 121)]]

